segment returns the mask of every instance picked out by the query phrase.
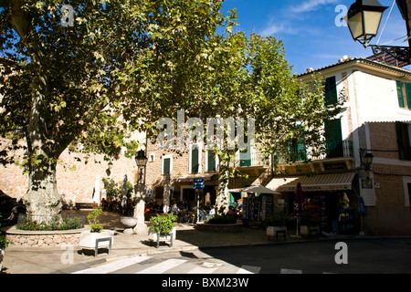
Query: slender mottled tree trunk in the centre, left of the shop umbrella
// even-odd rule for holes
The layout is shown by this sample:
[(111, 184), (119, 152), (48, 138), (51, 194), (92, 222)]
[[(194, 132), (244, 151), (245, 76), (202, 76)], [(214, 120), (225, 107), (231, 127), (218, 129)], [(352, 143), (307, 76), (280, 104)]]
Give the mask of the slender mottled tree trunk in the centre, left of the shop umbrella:
[(229, 162), (221, 161), (218, 173), (218, 192), (216, 196), (216, 214), (227, 214), (229, 206), (228, 192)]

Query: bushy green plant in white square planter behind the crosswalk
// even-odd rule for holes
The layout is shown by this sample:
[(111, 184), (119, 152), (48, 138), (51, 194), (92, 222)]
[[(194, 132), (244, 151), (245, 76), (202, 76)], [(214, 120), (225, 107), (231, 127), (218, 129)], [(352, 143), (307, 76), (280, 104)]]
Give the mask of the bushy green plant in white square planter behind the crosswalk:
[(160, 242), (175, 239), (176, 228), (174, 227), (174, 221), (176, 220), (177, 216), (173, 213), (157, 214), (150, 218), (150, 240), (157, 242), (157, 247)]

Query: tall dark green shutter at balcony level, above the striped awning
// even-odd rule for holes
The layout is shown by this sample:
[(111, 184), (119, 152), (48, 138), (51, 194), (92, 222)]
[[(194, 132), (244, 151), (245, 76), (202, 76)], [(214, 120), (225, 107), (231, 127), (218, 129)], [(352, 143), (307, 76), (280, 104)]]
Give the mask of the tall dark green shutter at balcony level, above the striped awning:
[(341, 120), (328, 120), (324, 127), (327, 158), (343, 157)]

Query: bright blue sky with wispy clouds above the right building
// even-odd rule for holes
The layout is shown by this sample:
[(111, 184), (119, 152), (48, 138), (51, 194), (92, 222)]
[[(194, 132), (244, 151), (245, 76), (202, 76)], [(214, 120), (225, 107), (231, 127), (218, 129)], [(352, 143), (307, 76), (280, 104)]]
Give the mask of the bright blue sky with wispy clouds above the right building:
[[(371, 48), (365, 49), (360, 43), (353, 41), (348, 27), (335, 24), (335, 19), (341, 13), (341, 10), (336, 12), (336, 7), (345, 5), (349, 8), (354, 2), (355, 0), (226, 0), (223, 12), (236, 7), (239, 24), (237, 29), (248, 35), (254, 32), (281, 39), (293, 72), (300, 74), (307, 68), (334, 64), (343, 56), (373, 55)], [(379, 45), (408, 46), (408, 42), (403, 42), (406, 39), (406, 22), (395, 1), (379, 2), (389, 8), (385, 10), (379, 35), (371, 43), (377, 44), (379, 39)], [(392, 42), (395, 39), (398, 40)]]

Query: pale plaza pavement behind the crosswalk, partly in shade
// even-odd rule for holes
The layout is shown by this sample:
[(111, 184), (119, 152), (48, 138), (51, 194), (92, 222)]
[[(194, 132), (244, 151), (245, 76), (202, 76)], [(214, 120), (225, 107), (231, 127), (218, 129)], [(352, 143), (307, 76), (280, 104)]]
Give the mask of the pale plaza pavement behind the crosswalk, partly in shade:
[[(90, 211), (81, 211), (89, 214)], [(148, 224), (148, 222), (146, 222)], [(94, 252), (83, 251), (78, 244), (69, 250), (61, 247), (21, 247), (9, 245), (5, 249), (3, 273), (6, 274), (47, 274), (56, 273), (68, 266), (112, 261), (119, 257), (136, 255), (157, 255), (177, 251), (193, 251), (201, 247), (234, 246), (234, 245), (267, 245), (274, 244), (276, 239), (268, 239), (262, 228), (243, 227), (240, 233), (213, 233), (195, 230), (195, 224), (176, 224), (177, 236), (173, 247), (162, 244), (159, 248), (150, 243), (148, 235), (124, 234), (120, 215), (104, 212), (100, 215), (100, 224), (105, 229), (115, 230), (111, 254), (105, 249)], [(290, 236), (288, 241), (295, 241)], [(283, 242), (283, 239), (279, 239)]]

